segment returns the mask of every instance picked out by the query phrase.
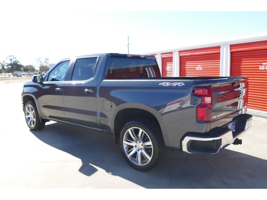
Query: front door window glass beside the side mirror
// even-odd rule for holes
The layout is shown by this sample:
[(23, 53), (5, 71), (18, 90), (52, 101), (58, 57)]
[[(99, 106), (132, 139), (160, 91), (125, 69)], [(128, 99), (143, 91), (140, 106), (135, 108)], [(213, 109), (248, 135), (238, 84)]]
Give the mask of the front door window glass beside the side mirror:
[(69, 60), (59, 63), (48, 76), (48, 81), (65, 81)]

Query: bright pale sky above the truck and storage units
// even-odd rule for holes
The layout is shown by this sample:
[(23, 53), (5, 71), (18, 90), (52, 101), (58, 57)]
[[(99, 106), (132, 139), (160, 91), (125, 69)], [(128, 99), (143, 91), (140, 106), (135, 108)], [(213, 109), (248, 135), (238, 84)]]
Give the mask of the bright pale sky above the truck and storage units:
[(267, 33), (266, 3), (214, 2), (2, 0), (0, 62), (14, 55), (35, 66), (39, 57), (57, 63), (75, 55), (128, 53), (128, 37), (129, 53), (143, 54)]

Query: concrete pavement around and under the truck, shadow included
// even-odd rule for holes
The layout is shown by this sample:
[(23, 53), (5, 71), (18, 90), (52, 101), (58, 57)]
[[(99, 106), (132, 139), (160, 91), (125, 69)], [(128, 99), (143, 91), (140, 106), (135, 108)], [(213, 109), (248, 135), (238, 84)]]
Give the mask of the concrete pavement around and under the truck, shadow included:
[(266, 118), (254, 116), (242, 145), (203, 156), (168, 150), (144, 173), (128, 166), (111, 135), (57, 122), (30, 131), (21, 81), (0, 79), (0, 189), (267, 188)]

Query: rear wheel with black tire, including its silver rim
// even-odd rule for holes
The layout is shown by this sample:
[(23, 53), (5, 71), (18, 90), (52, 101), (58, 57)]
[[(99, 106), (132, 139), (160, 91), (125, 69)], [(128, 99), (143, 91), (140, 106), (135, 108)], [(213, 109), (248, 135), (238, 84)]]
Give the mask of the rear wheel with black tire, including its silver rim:
[(149, 119), (126, 123), (120, 133), (120, 148), (126, 162), (139, 171), (153, 169), (165, 155), (160, 127)]

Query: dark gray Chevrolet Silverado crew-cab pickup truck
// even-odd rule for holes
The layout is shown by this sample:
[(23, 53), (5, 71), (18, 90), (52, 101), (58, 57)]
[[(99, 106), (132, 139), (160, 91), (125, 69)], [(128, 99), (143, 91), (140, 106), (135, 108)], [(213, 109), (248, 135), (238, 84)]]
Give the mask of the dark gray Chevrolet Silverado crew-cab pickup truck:
[(250, 127), (247, 77), (161, 77), (154, 56), (93, 54), (67, 58), (24, 84), (31, 130), (49, 120), (112, 134), (139, 171), (166, 148), (215, 154)]

